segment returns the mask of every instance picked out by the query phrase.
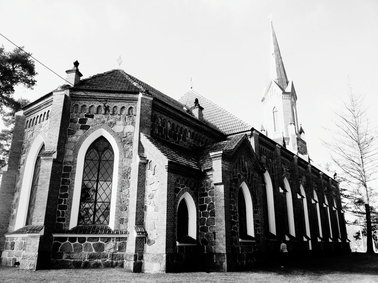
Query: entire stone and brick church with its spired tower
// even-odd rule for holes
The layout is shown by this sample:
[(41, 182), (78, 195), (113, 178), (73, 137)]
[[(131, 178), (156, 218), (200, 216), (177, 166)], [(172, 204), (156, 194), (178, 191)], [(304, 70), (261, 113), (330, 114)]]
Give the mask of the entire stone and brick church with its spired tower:
[(81, 79), (77, 61), (16, 112), (2, 265), (235, 271), (276, 260), (282, 240), (298, 257), (350, 251), (271, 32), (261, 128), (192, 88), (177, 101), (121, 69)]

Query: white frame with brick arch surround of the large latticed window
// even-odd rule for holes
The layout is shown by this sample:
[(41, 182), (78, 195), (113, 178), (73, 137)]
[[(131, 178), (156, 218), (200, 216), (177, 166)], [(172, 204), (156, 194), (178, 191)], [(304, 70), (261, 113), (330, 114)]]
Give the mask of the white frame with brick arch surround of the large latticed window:
[[(110, 127), (106, 125), (98, 125), (88, 130), (85, 135), (82, 135), (80, 140), (76, 143), (74, 148), (74, 158), (76, 158), (76, 168), (74, 169), (74, 184), (73, 184), (73, 196), (72, 196), (72, 206), (71, 206), (71, 215), (70, 215), (70, 229), (77, 225), (77, 220), (79, 216), (79, 206), (80, 206), (80, 195), (82, 189), (82, 180), (84, 172), (84, 158), (77, 158), (78, 156), (85, 156), (88, 148), (92, 145), (99, 137), (104, 137), (110, 143), (114, 153), (114, 164), (113, 167), (113, 176), (112, 176), (112, 189), (110, 197), (110, 212), (109, 212), (109, 227), (114, 229), (115, 224), (115, 211), (116, 211), (116, 198), (117, 198), (117, 188), (118, 188), (118, 166), (120, 158), (120, 152), (123, 150), (119, 149), (119, 146), (122, 145), (122, 141), (119, 136), (114, 132)], [(117, 140), (116, 140), (117, 138)]]

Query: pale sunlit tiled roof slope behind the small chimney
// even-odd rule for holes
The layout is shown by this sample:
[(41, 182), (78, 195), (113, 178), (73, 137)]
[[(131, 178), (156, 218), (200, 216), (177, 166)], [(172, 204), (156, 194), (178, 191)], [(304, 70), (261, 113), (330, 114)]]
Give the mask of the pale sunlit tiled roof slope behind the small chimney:
[(198, 102), (204, 108), (203, 117), (227, 135), (251, 130), (252, 127), (247, 123), (244, 123), (222, 107), (199, 95), (193, 89), (186, 92), (179, 101), (192, 107), (194, 106), (195, 98), (198, 98)]

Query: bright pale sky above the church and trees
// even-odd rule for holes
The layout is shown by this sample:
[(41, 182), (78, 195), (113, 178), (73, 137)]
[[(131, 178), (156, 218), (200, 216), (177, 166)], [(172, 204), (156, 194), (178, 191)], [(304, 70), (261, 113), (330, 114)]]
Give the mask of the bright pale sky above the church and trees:
[[(269, 14), (310, 157), (329, 160), (320, 138), (350, 76), (378, 118), (378, 1), (1, 1), (0, 33), (62, 77), (118, 68), (179, 99), (190, 87), (260, 128), (268, 71)], [(0, 37), (7, 50), (10, 43)], [(64, 81), (36, 63), (35, 100)]]

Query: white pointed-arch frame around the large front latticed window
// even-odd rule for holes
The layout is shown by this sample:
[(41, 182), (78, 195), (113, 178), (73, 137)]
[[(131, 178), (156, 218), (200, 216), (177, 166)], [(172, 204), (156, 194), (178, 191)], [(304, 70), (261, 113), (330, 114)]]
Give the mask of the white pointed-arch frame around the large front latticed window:
[(117, 198), (117, 184), (118, 184), (118, 164), (119, 164), (119, 148), (114, 137), (105, 129), (97, 129), (91, 133), (82, 143), (79, 152), (77, 154), (75, 184), (72, 198), (70, 229), (77, 225), (77, 218), (79, 217), (80, 195), (81, 186), (84, 172), (85, 154), (89, 146), (97, 138), (103, 136), (106, 138), (110, 145), (112, 145), (114, 152), (114, 166), (113, 166), (113, 178), (112, 178), (112, 196), (110, 198), (110, 213), (109, 213), (109, 227), (114, 229), (115, 212), (116, 212), (116, 198)]

